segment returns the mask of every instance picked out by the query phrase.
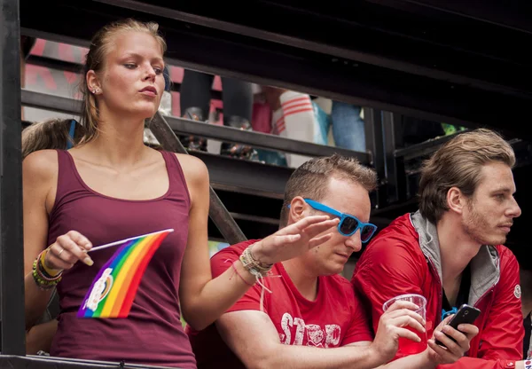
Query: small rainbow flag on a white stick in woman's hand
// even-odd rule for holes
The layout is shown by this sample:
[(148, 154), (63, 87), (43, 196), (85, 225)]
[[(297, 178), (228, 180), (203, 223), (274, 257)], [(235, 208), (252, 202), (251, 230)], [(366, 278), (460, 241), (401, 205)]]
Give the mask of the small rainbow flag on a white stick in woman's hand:
[(78, 310), (78, 318), (127, 318), (137, 294), (140, 279), (159, 248), (160, 242), (174, 230), (153, 232), (122, 239), (101, 248), (121, 245), (100, 269)]

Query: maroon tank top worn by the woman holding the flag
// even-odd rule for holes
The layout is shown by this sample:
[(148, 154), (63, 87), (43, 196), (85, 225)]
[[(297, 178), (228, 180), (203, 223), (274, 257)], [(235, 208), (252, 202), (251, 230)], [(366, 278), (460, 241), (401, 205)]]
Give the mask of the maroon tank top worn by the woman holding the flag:
[(128, 318), (76, 318), (92, 280), (114, 247), (90, 253), (94, 265), (78, 262), (64, 272), (58, 285), (61, 310), (51, 356), (196, 367), (180, 320), (178, 296), (191, 203), (176, 155), (161, 153), (168, 192), (153, 200), (121, 200), (91, 190), (70, 153), (58, 150), (58, 190), (50, 215), (49, 245), (70, 230), (81, 232), (95, 247), (168, 228), (175, 231), (148, 263)]

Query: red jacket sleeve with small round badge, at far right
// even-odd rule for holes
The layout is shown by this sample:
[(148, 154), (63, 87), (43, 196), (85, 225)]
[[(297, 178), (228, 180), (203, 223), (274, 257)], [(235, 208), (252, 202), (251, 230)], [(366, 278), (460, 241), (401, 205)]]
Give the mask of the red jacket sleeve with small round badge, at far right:
[(464, 357), (451, 365), (440, 365), (439, 369), (503, 369), (514, 368), (515, 361), (523, 357), (525, 335), (521, 312), (519, 285), (519, 264), (510, 250), (501, 252), (501, 279), (494, 291), (493, 304), (489, 309), (488, 326), (481, 337), (479, 358)]

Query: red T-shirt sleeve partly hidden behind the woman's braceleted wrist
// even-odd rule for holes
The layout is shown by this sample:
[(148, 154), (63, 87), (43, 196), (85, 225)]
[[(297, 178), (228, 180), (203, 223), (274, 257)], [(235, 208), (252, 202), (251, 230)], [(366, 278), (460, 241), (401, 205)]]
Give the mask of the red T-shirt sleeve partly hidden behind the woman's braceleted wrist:
[[(252, 243), (254, 242), (242, 242), (236, 246), (223, 248), (223, 250), (220, 250), (213, 255), (213, 257), (211, 257), (213, 278), (218, 277), (228, 268), (232, 268), (231, 264), (239, 260), (239, 256), (244, 248)], [(234, 272), (232, 278), (240, 277)], [(254, 287), (250, 287), (246, 294), (244, 294), (238, 302), (235, 302), (226, 312), (239, 310), (261, 310), (261, 287), (258, 284), (255, 284)], [(266, 307), (264, 307), (264, 312), (267, 313)]]

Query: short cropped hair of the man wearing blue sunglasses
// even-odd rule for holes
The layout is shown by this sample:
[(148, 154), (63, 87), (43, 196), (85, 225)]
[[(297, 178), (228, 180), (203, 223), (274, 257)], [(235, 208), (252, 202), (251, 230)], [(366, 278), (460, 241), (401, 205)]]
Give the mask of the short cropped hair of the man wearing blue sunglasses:
[(322, 200), (332, 177), (348, 179), (362, 185), (367, 192), (372, 192), (377, 187), (375, 171), (364, 167), (356, 158), (335, 153), (332, 156), (310, 159), (295, 169), (286, 183), (280, 226), (284, 227), (288, 223), (288, 205), (294, 197)]

